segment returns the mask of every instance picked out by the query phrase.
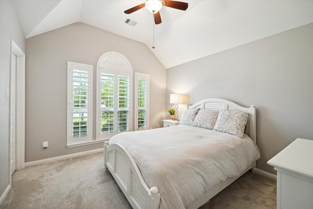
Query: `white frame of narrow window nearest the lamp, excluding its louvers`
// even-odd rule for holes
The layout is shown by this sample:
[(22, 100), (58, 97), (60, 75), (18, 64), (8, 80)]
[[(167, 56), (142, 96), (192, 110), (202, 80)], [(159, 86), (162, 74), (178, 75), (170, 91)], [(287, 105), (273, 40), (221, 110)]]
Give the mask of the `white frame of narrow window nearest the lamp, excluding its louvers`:
[[(134, 130), (137, 131), (137, 130), (147, 130), (149, 129), (149, 95), (150, 95), (150, 75), (149, 74), (145, 74), (145, 73), (140, 73), (140, 72), (135, 72), (135, 84), (134, 84)], [(139, 88), (138, 88), (138, 80), (139, 79), (145, 79), (147, 80), (147, 87), (146, 87), (146, 113), (145, 113), (145, 123), (146, 123), (146, 128), (144, 129), (139, 129), (138, 128), (138, 111), (139, 111), (139, 107), (138, 107), (138, 93), (139, 93)]]

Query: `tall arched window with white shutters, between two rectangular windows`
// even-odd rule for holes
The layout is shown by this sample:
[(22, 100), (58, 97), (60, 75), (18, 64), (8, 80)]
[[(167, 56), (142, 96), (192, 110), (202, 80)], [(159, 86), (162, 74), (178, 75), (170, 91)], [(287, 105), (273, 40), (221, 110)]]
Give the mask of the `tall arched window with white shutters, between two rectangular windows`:
[(132, 66), (117, 52), (107, 52), (97, 62), (96, 139), (132, 131)]

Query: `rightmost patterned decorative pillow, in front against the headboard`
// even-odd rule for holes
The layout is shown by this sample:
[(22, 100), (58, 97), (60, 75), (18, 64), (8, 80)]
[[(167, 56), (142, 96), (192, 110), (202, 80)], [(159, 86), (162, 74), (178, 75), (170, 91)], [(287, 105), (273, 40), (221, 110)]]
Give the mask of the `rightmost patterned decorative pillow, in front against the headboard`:
[(213, 130), (243, 138), (248, 116), (244, 112), (220, 110)]

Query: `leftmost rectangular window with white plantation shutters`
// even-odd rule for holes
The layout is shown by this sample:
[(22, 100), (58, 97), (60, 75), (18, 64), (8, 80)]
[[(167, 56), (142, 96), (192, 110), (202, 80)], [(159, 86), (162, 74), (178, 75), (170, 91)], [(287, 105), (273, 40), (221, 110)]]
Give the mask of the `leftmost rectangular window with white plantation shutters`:
[(92, 66), (67, 62), (67, 146), (92, 140)]

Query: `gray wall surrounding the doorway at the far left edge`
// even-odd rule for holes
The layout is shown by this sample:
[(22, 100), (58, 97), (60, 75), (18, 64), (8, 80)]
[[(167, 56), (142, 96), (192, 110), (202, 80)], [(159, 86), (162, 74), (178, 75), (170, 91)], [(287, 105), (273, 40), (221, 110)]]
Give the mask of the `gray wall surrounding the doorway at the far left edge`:
[(11, 39), (25, 51), (25, 39), (13, 1), (0, 0), (0, 196), (9, 186), (9, 98)]

